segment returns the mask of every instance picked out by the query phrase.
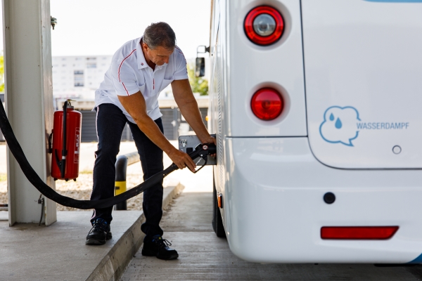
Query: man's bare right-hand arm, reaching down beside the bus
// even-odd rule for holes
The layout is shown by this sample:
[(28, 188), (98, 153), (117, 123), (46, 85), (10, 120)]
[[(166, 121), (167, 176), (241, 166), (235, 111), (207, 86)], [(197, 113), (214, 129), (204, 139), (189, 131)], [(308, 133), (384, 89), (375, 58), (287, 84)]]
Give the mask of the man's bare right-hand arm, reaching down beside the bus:
[(186, 122), (192, 127), (193, 131), (195, 131), (200, 142), (215, 144), (215, 138), (210, 136), (210, 133), (208, 133), (203, 119), (200, 116), (198, 103), (196, 103), (196, 99), (193, 96), (189, 80), (183, 79), (172, 81), (172, 90), (174, 100), (176, 100), (177, 105), (179, 105), (181, 114), (185, 117)]

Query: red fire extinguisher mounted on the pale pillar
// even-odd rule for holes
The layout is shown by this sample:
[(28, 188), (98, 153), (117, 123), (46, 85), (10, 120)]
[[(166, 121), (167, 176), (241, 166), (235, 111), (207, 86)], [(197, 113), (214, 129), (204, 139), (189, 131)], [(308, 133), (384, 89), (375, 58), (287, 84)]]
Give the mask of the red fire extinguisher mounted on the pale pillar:
[[(66, 114), (63, 114), (66, 112)], [(70, 100), (66, 100), (63, 110), (54, 112), (53, 131), (49, 138), (51, 176), (54, 181), (76, 181), (79, 176), (79, 148), (81, 143), (82, 114), (73, 110)], [(51, 137), (53, 145), (51, 147)]]

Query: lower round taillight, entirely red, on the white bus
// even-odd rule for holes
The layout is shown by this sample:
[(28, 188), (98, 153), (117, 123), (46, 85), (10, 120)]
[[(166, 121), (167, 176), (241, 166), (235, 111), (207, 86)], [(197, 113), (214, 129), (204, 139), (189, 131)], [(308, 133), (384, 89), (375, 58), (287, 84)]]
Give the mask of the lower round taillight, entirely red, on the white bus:
[(271, 88), (258, 90), (250, 102), (253, 114), (262, 120), (273, 120), (283, 111), (283, 98), (281, 94)]

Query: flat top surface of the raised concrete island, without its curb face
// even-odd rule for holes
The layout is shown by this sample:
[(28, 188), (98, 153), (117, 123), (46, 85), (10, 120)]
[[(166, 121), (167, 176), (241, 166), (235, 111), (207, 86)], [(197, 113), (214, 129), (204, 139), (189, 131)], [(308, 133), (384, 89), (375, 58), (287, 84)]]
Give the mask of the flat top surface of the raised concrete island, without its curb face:
[(115, 211), (113, 238), (85, 245), (92, 211), (60, 211), (45, 227), (0, 221), (0, 280), (86, 280), (142, 211)]

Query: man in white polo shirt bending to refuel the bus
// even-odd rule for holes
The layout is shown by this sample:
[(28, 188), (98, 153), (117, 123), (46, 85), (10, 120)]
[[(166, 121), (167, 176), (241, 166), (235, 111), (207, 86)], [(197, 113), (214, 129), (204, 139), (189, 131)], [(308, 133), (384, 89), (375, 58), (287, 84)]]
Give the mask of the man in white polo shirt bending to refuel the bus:
[[(177, 150), (162, 134), (158, 96), (172, 84), (174, 99), (188, 124), (202, 143), (215, 143), (203, 124), (188, 81), (186, 60), (176, 46), (174, 31), (165, 22), (148, 26), (143, 37), (128, 41), (113, 55), (104, 81), (96, 91), (96, 129), (98, 150), (94, 165), (94, 188), (91, 200), (113, 197), (115, 161), (124, 126), (129, 123), (141, 157), (143, 179), (163, 170), (164, 151), (179, 169), (196, 167), (186, 153)], [(104, 244), (112, 235), (110, 222), (113, 207), (96, 209), (86, 244)], [(162, 239), (162, 183), (143, 192), (146, 234), (142, 254), (158, 259), (177, 259), (177, 251)]]

